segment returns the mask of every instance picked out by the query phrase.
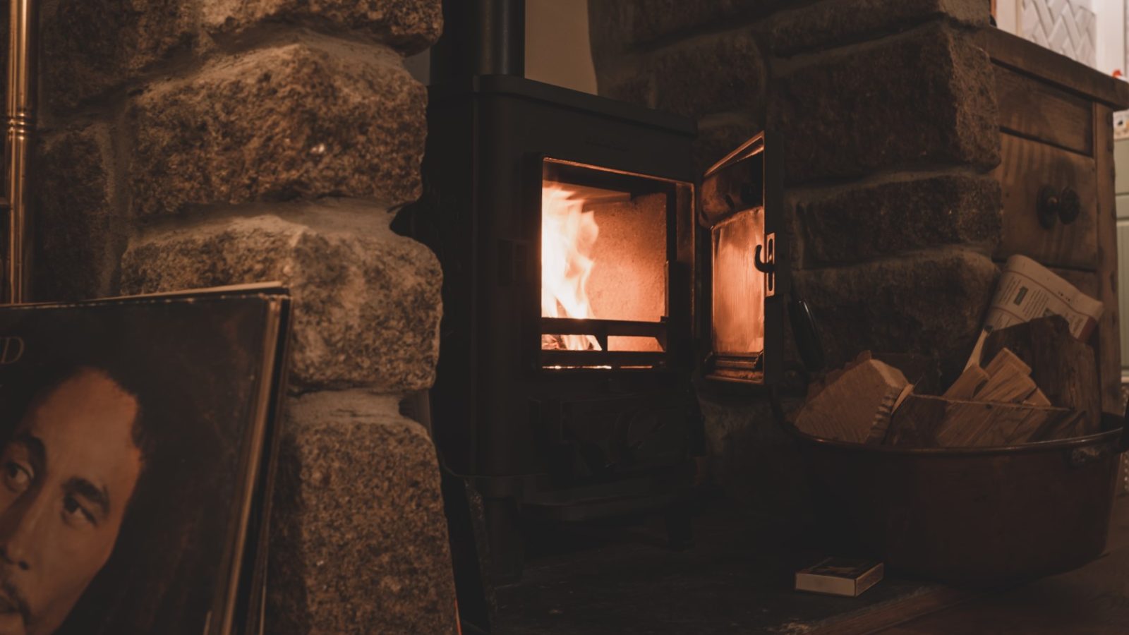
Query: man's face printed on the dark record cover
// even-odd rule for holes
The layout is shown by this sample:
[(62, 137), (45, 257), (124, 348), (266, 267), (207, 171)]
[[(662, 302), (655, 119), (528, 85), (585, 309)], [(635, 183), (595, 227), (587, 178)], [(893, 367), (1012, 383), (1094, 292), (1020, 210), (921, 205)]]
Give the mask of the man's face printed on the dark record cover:
[(138, 414), (79, 368), (20, 419), (0, 453), (0, 634), (54, 633), (106, 564), (141, 473)]

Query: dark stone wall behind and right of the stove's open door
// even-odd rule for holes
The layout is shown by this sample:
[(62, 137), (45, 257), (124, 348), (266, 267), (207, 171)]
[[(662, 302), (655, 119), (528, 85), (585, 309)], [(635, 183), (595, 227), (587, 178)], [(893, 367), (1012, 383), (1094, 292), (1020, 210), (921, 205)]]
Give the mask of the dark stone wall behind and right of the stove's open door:
[[(830, 365), (863, 349), (946, 367), (966, 357), (998, 273), (995, 88), (974, 40), (988, 2), (589, 0), (588, 10), (601, 94), (695, 118), (702, 169), (767, 125), (781, 132), (795, 288)], [(742, 498), (779, 502), (782, 479), (765, 475), (798, 460), (768, 408), (703, 389), (714, 477)]]

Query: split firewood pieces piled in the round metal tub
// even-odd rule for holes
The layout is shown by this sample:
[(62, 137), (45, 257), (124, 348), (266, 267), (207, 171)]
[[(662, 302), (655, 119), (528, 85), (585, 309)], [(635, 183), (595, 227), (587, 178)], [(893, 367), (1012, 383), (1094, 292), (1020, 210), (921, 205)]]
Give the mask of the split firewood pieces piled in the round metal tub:
[(940, 394), (864, 353), (813, 384), (796, 427), (811, 436), (912, 447), (1006, 446), (1100, 432), (1094, 351), (1059, 316), (991, 333)]

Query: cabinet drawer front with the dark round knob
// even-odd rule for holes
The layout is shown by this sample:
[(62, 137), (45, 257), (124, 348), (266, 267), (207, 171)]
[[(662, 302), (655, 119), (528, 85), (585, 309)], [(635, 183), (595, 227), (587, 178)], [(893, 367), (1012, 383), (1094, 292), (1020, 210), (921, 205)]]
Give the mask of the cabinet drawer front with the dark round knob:
[[(1096, 269), (1097, 200), (1094, 159), (1047, 143), (1000, 136), (999, 167), (992, 175), (1004, 193), (1003, 235), (996, 258), (1030, 256), (1048, 267)], [(1070, 188), (1078, 193), (1080, 212), (1070, 224), (1054, 219), (1048, 229), (1039, 221), (1039, 191)]]

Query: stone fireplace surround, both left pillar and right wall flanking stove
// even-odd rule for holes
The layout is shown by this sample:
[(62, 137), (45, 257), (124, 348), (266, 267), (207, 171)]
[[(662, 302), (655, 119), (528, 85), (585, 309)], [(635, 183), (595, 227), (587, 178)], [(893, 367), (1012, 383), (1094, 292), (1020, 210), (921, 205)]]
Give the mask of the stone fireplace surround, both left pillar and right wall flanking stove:
[[(296, 298), (268, 633), (454, 633), (427, 389), (441, 272), (388, 229), (420, 195), (426, 90), (403, 56), (439, 0), (46, 0), (36, 299), (281, 279)], [(981, 0), (590, 0), (601, 94), (699, 121), (704, 168), (787, 145), (796, 285), (829, 363), (955, 359), (997, 275)], [(889, 307), (898, 304), (899, 312)], [(938, 307), (945, 307), (938, 311)], [(704, 394), (710, 475), (762, 482), (785, 441)]]

